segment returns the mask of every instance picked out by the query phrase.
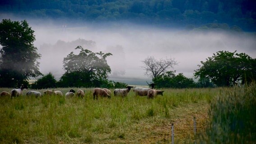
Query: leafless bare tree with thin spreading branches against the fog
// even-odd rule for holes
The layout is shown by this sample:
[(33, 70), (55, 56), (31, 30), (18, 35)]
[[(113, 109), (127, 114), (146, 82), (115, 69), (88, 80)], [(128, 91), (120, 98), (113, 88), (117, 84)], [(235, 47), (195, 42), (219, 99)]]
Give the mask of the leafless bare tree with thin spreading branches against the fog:
[(145, 65), (142, 66), (146, 70), (145, 75), (151, 76), (154, 79), (160, 74), (166, 72), (169, 68), (173, 68), (174, 65), (178, 63), (174, 58), (160, 58), (159, 60), (155, 59), (153, 56), (148, 56), (145, 60), (142, 61)]

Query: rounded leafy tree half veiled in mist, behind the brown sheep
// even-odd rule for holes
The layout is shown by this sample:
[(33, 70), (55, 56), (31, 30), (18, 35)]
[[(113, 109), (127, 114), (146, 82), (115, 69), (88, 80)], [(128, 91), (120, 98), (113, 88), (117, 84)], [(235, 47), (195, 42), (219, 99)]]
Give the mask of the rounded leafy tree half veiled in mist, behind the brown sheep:
[(111, 72), (106, 58), (112, 54), (93, 53), (81, 46), (75, 49), (81, 49), (78, 55), (71, 52), (63, 60), (66, 72), (61, 76), (59, 85), (92, 87), (106, 83), (107, 74)]

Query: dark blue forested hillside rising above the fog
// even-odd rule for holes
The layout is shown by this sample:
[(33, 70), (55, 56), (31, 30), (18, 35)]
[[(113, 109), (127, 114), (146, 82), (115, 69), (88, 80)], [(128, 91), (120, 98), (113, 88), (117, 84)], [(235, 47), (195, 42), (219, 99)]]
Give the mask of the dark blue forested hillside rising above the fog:
[[(0, 0), (0, 13), (76, 22), (131, 21), (255, 31), (255, 0)], [(208, 24), (208, 25), (207, 25)]]

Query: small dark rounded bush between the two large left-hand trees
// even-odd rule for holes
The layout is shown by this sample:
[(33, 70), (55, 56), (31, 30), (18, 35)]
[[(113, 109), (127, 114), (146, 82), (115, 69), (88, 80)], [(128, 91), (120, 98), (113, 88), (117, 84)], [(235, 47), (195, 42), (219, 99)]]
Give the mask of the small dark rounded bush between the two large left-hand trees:
[(48, 73), (45, 76), (39, 78), (35, 83), (31, 85), (32, 89), (46, 89), (56, 87), (56, 80), (52, 73)]

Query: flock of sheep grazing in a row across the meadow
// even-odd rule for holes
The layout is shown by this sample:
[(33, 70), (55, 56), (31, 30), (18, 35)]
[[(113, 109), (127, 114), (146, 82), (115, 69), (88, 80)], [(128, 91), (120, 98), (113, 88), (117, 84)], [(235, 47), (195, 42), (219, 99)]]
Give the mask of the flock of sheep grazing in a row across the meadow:
[[(151, 86), (151, 88), (142, 88), (142, 87), (136, 87), (133, 89), (135, 95), (139, 95), (139, 96), (147, 96), (148, 99), (154, 99), (154, 97), (156, 95), (163, 95), (164, 91), (161, 90), (155, 90), (154, 86), (155, 84), (149, 84)], [(121, 97), (126, 97), (127, 94), (129, 93), (129, 91), (131, 90), (131, 88), (133, 88), (133, 86), (127, 86), (126, 89), (115, 89), (114, 90), (114, 96), (121, 96)], [(11, 90), (11, 93), (7, 92), (7, 91), (2, 91), (0, 93), (0, 96), (8, 96), (8, 97), (18, 97), (22, 94), (22, 90), (23, 89), (27, 89), (26, 86), (22, 85), (20, 88), (18, 89), (13, 89)], [(59, 95), (59, 96), (63, 96), (62, 92), (60, 90), (45, 90), (44, 95)], [(65, 94), (66, 98), (71, 98), (74, 96), (77, 97), (84, 97), (84, 91), (83, 90), (77, 90), (77, 92), (73, 89), (69, 90), (69, 92), (67, 92)], [(30, 90), (26, 93), (27, 96), (36, 96), (36, 97), (41, 97), (42, 94), (39, 91), (33, 91)], [(111, 91), (108, 89), (101, 89), (101, 88), (94, 88), (92, 91), (92, 95), (93, 95), (93, 99), (98, 99), (98, 96), (100, 97), (111, 97)]]

